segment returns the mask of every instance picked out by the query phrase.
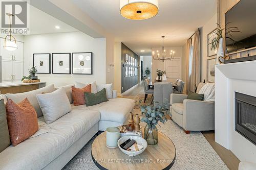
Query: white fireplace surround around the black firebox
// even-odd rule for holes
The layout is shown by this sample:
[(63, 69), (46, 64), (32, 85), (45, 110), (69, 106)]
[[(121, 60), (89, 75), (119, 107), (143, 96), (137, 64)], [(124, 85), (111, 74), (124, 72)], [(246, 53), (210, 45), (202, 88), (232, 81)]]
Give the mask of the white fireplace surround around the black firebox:
[(256, 163), (256, 145), (235, 129), (236, 92), (256, 97), (256, 61), (215, 66), (215, 141), (241, 161)]

